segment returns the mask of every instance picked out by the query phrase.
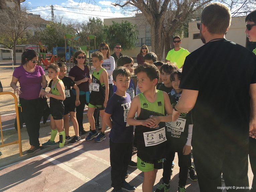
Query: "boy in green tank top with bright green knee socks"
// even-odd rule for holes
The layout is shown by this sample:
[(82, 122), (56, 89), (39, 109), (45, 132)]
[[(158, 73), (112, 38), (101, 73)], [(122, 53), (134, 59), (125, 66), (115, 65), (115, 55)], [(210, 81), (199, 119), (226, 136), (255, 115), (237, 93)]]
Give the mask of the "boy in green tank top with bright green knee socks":
[(48, 77), (53, 80), (51, 90), (46, 93), (46, 96), (50, 98), (50, 127), (51, 127), (51, 138), (43, 143), (42, 146), (55, 145), (54, 139), (59, 132), (59, 147), (63, 147), (65, 144), (65, 131), (63, 128), (63, 115), (65, 100), (65, 86), (63, 82), (58, 78), (59, 66), (57, 64), (50, 64), (48, 66)]

